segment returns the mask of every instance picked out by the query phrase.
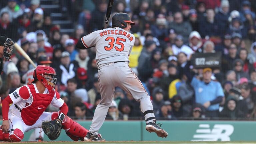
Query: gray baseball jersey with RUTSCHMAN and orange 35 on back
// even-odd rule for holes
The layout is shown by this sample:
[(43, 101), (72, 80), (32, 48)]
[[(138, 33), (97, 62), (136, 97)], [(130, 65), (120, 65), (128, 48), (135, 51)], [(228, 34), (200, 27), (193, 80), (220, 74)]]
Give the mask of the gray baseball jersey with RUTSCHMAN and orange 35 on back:
[(96, 46), (98, 68), (115, 61), (128, 62), (134, 41), (133, 34), (118, 27), (98, 30), (82, 38), (86, 48)]

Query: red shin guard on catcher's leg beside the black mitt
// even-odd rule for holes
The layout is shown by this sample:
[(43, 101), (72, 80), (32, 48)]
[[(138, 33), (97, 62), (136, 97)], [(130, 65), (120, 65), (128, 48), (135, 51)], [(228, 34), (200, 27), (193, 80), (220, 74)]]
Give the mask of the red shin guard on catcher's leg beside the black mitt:
[(62, 128), (66, 134), (74, 141), (83, 140), (89, 132), (86, 128), (82, 127), (79, 123), (73, 121), (70, 117), (65, 116), (62, 122)]

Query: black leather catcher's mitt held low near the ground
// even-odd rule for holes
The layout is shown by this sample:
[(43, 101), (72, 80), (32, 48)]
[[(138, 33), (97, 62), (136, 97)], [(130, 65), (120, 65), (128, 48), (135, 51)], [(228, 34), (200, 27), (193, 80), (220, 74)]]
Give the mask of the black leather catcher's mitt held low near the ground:
[(50, 140), (56, 140), (60, 136), (61, 123), (57, 120), (44, 121), (42, 129)]

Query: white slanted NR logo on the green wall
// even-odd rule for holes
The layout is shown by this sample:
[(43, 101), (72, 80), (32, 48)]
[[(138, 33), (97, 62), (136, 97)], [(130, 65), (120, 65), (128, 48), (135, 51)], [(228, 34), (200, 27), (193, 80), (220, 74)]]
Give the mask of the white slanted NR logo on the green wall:
[(199, 128), (191, 141), (230, 141), (229, 136), (234, 132), (229, 124), (215, 124), (212, 130), (209, 124), (200, 124)]

